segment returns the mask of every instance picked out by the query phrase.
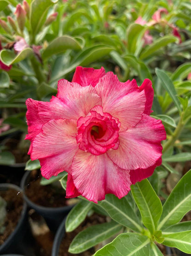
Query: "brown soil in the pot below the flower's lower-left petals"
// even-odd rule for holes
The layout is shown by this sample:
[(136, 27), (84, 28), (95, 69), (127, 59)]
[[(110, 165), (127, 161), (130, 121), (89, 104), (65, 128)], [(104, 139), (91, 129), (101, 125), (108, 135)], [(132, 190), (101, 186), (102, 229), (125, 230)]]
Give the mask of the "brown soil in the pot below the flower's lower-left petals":
[(41, 206), (45, 207), (63, 207), (67, 205), (68, 199), (60, 182), (51, 185), (42, 186), (40, 180), (42, 176), (39, 171), (32, 171), (30, 181), (25, 189), (28, 198)]

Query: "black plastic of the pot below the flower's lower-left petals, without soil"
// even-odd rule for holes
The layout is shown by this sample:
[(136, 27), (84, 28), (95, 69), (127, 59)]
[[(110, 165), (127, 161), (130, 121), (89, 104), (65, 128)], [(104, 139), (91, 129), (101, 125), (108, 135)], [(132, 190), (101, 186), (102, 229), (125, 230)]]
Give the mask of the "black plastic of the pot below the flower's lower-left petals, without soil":
[[(64, 217), (66, 217), (68, 212), (73, 208), (73, 205), (63, 207), (45, 207), (32, 202), (25, 193), (25, 188), (28, 185), (29, 180), (30, 171), (27, 171), (21, 180), (21, 188), (23, 191), (24, 199), (30, 208), (33, 208), (45, 219), (50, 230), (52, 232), (56, 232)], [(38, 191), (36, 192), (38, 193)]]

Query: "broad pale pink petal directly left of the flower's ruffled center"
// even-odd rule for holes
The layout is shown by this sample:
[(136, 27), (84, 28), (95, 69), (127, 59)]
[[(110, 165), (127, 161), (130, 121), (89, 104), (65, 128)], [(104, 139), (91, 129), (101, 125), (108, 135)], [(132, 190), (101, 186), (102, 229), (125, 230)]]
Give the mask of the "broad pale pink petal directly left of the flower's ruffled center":
[[(59, 161), (57, 163), (59, 170), (61, 170), (62, 161), (62, 171), (70, 172), (73, 156), (78, 150), (76, 132), (76, 120), (57, 119), (47, 122), (32, 143), (31, 159), (40, 160), (42, 158), (42, 162), (45, 164), (46, 159), (50, 161), (50, 157), (52, 157), (52, 161), (54, 159)], [(44, 168), (43, 166), (42, 168)], [(50, 177), (48, 177), (48, 173), (45, 175), (47, 179)]]

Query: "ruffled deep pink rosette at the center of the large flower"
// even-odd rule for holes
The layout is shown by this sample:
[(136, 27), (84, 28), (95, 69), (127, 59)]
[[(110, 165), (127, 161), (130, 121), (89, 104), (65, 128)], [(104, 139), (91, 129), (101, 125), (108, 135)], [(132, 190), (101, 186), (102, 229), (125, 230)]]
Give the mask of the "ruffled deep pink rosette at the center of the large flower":
[(101, 106), (91, 109), (77, 122), (76, 140), (79, 148), (93, 155), (104, 154), (108, 149), (118, 149), (120, 122), (109, 113), (103, 113)]

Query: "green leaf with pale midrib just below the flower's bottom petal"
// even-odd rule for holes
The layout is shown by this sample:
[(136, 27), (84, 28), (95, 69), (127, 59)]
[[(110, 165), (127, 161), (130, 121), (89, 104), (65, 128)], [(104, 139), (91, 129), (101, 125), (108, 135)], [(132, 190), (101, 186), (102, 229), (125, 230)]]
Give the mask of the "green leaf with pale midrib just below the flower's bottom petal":
[(135, 232), (142, 231), (142, 226), (139, 218), (135, 214), (132, 206), (129, 204), (130, 195), (124, 196), (121, 199), (114, 195), (106, 195), (106, 199), (98, 202), (98, 204), (107, 211), (110, 217), (127, 226)]

